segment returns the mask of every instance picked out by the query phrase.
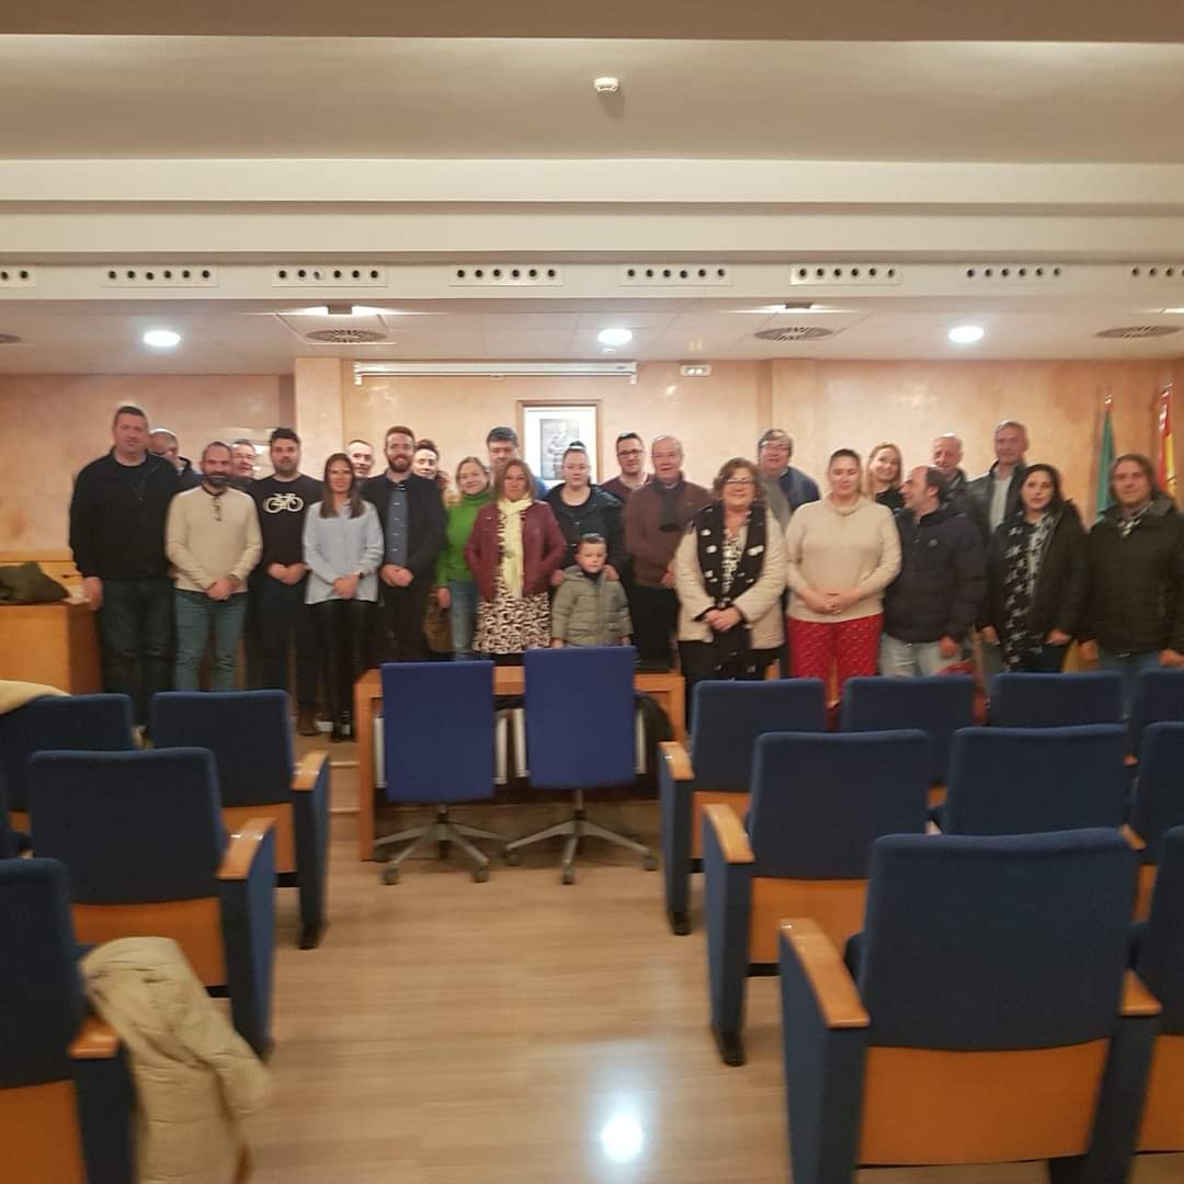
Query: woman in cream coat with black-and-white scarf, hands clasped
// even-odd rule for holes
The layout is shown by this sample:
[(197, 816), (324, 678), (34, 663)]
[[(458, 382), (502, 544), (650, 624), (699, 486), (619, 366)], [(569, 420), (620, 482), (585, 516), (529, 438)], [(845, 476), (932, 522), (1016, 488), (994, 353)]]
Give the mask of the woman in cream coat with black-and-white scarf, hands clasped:
[(696, 682), (761, 678), (785, 639), (785, 545), (757, 465), (733, 457), (675, 553), (688, 716)]

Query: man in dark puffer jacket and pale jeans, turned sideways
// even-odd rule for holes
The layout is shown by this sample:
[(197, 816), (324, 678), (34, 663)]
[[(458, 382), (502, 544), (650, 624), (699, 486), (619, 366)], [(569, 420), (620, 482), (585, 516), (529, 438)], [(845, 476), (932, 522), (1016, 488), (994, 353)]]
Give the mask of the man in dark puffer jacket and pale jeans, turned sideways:
[(937, 674), (957, 661), (986, 592), (982, 535), (941, 504), (941, 474), (921, 465), (902, 491), (900, 574), (884, 593), (880, 644), (880, 673), (892, 677)]

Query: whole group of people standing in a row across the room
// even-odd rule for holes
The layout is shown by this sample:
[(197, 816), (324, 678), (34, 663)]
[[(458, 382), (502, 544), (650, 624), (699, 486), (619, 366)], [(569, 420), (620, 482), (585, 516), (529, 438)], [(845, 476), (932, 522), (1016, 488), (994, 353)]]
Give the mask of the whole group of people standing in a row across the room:
[(250, 683), (288, 687), (294, 650), (301, 731), (322, 702), (345, 738), (356, 677), (429, 656), (440, 614), (432, 649), (457, 659), (632, 641), (665, 669), (677, 639), (689, 686), (778, 662), (798, 676), (834, 668), (839, 684), (931, 674), (961, 661), (974, 630), (989, 674), (1060, 670), (1075, 638), (1128, 677), (1184, 664), (1184, 521), (1151, 463), (1114, 462), (1113, 504), (1087, 535), (1012, 420), (973, 481), (945, 435), (909, 471), (889, 443), (866, 468), (837, 450), (825, 495), (780, 429), (710, 489), (687, 481), (673, 436), (651, 442), (646, 471), (636, 432), (618, 437), (619, 472), (603, 485), (571, 443), (549, 490), (510, 427), (491, 429), (487, 456), (455, 477), (405, 425), (385, 435), (384, 471), (350, 440), (321, 480), (301, 472), (287, 427), (271, 433), (263, 480), (250, 442), (212, 442), (194, 469), (135, 406), (118, 408), (112, 437), (78, 475), (70, 540), (107, 686), (133, 695), (141, 722), (155, 690), (197, 688), (211, 643), (211, 684), (233, 687), (245, 636)]

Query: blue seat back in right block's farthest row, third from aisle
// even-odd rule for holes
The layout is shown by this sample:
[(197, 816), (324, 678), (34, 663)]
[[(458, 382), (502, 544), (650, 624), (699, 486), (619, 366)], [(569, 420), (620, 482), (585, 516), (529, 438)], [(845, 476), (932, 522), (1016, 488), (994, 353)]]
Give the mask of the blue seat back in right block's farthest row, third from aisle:
[(1069, 728), (1122, 722), (1122, 676), (1113, 670), (1088, 674), (1018, 674), (1008, 670), (991, 682), (991, 727)]

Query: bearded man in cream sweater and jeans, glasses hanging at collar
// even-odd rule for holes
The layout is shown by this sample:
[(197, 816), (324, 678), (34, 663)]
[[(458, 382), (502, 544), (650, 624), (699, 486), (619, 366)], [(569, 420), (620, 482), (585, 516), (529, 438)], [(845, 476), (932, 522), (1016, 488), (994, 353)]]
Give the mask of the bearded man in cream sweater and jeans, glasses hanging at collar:
[(176, 568), (178, 690), (198, 690), (198, 668), (214, 639), (213, 690), (233, 690), (246, 622), (246, 578), (263, 553), (255, 500), (230, 488), (232, 453), (214, 440), (201, 453), (201, 484), (168, 508), (165, 552)]

